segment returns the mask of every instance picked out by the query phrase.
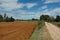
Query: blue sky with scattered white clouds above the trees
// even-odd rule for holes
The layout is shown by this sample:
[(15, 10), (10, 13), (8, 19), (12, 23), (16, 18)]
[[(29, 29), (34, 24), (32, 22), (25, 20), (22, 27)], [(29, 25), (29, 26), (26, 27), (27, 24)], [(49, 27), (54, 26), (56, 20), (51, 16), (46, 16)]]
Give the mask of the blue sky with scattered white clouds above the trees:
[(60, 0), (0, 0), (0, 14), (15, 19), (39, 18), (40, 15), (60, 15)]

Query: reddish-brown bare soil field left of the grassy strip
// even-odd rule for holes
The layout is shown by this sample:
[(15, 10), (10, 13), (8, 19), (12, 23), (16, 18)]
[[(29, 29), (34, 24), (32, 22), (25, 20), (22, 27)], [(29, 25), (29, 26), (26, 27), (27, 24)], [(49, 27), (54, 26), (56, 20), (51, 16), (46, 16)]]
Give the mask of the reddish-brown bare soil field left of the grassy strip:
[(2, 22), (0, 40), (29, 40), (38, 22)]

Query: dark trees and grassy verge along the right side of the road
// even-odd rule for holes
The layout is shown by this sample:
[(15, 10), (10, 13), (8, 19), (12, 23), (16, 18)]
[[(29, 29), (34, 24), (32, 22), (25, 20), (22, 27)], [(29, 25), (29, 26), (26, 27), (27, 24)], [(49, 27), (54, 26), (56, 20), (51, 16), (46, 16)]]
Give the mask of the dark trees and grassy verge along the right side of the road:
[(41, 15), (40, 20), (44, 20), (45, 22), (53, 23), (53, 24), (57, 25), (58, 27), (60, 27), (60, 16), (59, 15), (57, 15), (56, 18), (51, 17), (49, 15)]

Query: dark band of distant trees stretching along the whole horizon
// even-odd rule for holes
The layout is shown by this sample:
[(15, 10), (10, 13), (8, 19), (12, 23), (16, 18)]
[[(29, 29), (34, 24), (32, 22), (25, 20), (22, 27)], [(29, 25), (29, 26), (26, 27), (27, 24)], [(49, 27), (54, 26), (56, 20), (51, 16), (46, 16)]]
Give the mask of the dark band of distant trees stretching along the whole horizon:
[[(41, 15), (40, 19), (32, 18), (31, 20), (32, 21), (43, 20), (47, 22), (60, 22), (60, 16), (57, 15), (56, 18), (54, 18), (49, 15)], [(6, 14), (4, 14), (4, 16), (0, 15), (0, 22), (31, 21), (31, 20), (14, 19), (13, 17), (8, 17)]]

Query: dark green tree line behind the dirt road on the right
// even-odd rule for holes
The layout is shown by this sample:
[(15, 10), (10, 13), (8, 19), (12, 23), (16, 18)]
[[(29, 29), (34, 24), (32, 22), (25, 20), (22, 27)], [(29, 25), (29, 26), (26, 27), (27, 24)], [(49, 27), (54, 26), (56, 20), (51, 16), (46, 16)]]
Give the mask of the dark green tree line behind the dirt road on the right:
[(54, 18), (54, 17), (51, 17), (49, 15), (41, 15), (40, 20), (44, 20), (47, 22), (60, 22), (60, 16), (57, 15), (56, 18)]

